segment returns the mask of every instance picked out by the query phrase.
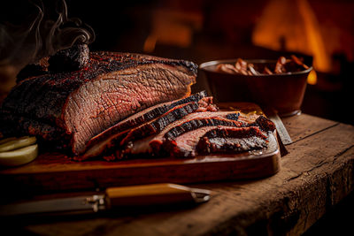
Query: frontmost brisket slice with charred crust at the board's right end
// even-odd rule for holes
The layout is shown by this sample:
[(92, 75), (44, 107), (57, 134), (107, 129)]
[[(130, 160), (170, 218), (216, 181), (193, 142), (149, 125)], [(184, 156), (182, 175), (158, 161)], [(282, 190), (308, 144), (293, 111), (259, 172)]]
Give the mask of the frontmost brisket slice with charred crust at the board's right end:
[(230, 126), (226, 123), (220, 126), (203, 126), (167, 139), (163, 147), (167, 156), (177, 157), (266, 148), (267, 133), (274, 130), (272, 124), (272, 121), (261, 116), (256, 122), (243, 126)]

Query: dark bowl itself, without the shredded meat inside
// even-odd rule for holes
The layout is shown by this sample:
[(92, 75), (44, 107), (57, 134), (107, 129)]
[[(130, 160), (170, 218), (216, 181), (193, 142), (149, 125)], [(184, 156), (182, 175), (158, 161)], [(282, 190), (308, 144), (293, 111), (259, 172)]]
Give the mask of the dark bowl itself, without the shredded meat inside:
[[(212, 95), (219, 102), (251, 102), (272, 108), (282, 117), (299, 113), (304, 99), (307, 76), (312, 67), (300, 72), (242, 75), (216, 72), (219, 64), (235, 65), (237, 59), (205, 62), (199, 65), (208, 80)], [(272, 69), (275, 60), (245, 60), (257, 67)]]

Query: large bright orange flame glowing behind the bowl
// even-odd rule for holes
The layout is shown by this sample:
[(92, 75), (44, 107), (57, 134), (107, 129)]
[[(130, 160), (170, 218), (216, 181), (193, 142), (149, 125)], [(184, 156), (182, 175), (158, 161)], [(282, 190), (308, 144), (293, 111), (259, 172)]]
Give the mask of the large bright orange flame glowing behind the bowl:
[(272, 0), (252, 35), (255, 45), (313, 56), (313, 67), (331, 70), (331, 57), (319, 32), (319, 22), (307, 0)]

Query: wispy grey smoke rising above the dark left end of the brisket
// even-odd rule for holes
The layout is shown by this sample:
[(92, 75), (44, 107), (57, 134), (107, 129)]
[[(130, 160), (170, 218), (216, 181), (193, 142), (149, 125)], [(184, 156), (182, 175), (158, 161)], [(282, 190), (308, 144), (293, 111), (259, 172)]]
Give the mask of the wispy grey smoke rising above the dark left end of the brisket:
[(16, 76), (24, 66), (70, 48), (75, 42), (89, 44), (95, 40), (91, 27), (68, 17), (65, 0), (15, 3), (15, 9), (3, 8), (7, 12), (0, 12), (0, 83)]

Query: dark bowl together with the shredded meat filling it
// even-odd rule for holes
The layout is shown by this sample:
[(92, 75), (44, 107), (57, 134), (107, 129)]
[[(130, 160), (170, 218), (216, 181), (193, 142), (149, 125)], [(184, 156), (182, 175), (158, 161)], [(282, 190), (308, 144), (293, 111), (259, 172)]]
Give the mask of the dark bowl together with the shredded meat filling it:
[(257, 103), (285, 117), (300, 113), (312, 67), (298, 57), (280, 57), (215, 60), (199, 65), (199, 69), (217, 102)]

